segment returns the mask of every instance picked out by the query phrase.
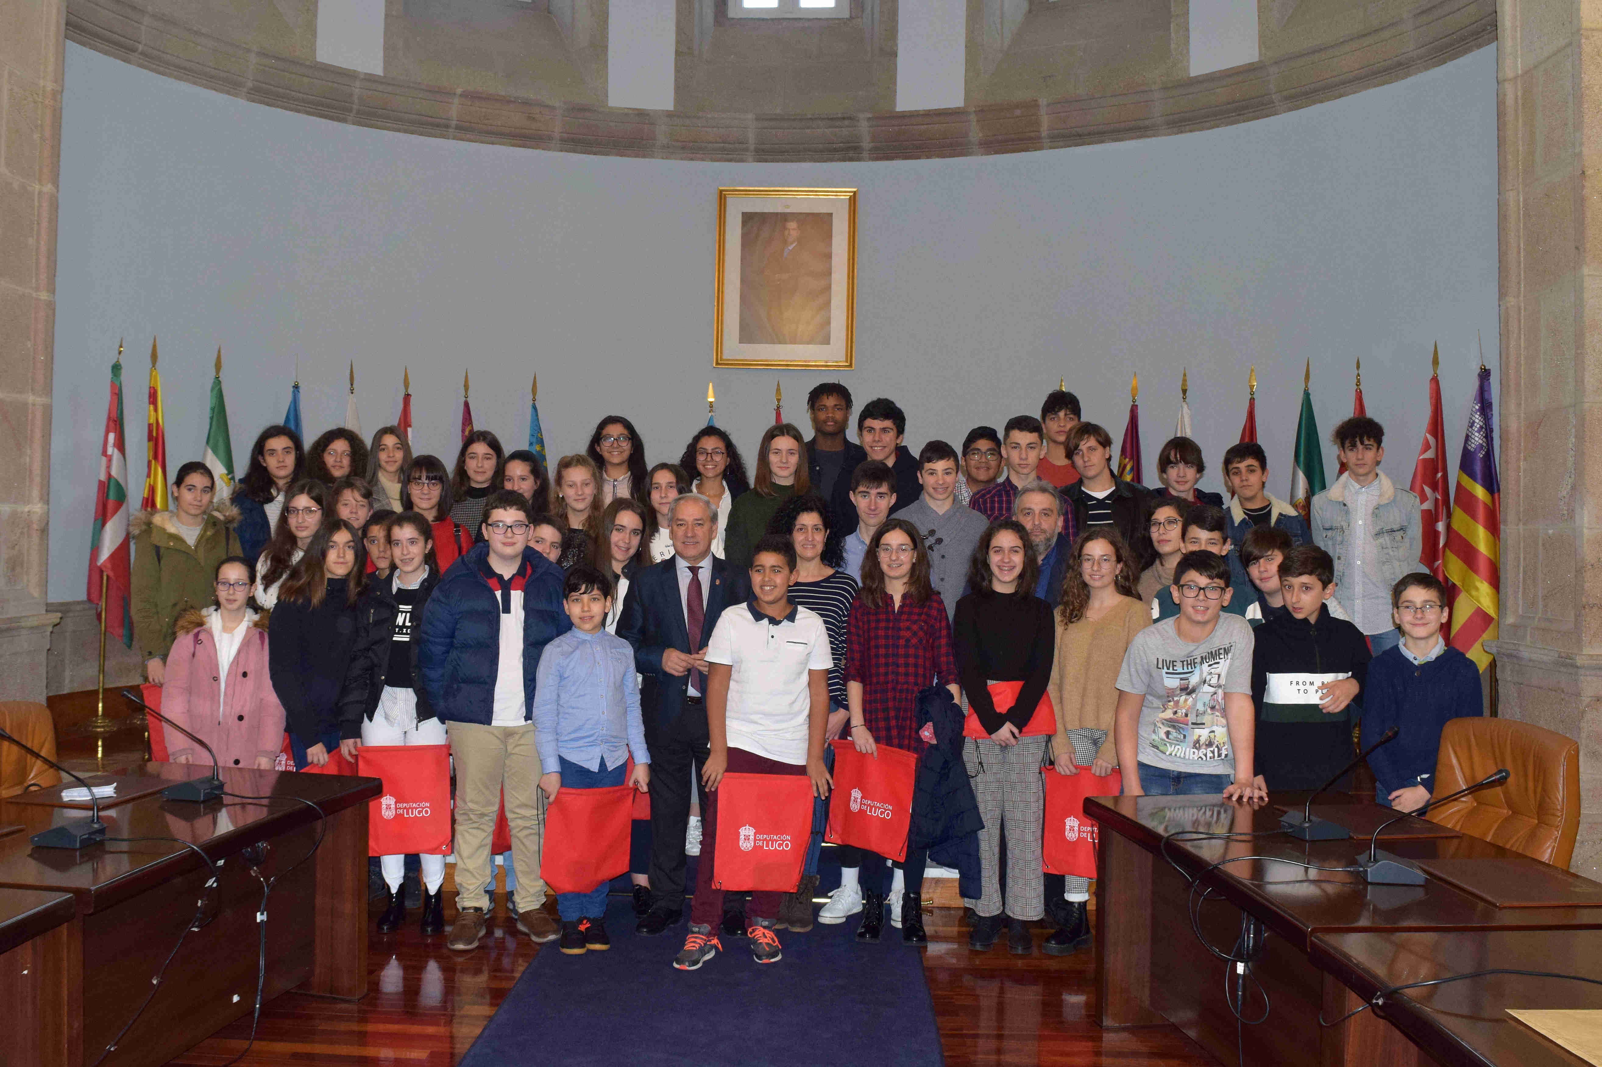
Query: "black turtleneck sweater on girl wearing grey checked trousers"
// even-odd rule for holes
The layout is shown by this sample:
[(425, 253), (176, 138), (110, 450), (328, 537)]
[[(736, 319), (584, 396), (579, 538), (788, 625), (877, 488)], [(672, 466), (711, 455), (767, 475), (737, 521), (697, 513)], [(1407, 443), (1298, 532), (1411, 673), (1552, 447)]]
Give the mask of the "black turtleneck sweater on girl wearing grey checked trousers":
[[(956, 670), (968, 707), (987, 734), (1012, 723), (1028, 725), (1051, 681), (1056, 627), (1051, 605), (1033, 593), (972, 592), (956, 601)], [(990, 681), (1022, 681), (1017, 702), (1004, 715), (990, 699)]]

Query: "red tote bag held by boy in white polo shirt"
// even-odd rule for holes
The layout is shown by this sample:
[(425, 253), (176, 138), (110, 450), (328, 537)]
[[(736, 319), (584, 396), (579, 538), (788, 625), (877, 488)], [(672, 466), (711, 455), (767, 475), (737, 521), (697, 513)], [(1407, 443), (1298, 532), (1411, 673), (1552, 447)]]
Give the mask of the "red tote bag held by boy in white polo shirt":
[(812, 838), (806, 774), (724, 774), (718, 782), (714, 889), (795, 893)]

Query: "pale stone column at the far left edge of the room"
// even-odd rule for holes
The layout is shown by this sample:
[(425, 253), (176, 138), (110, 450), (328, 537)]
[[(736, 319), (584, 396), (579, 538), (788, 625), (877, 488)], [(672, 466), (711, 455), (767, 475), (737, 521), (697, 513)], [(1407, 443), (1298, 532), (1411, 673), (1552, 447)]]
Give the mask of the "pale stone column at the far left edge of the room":
[(66, 0), (0, 3), (0, 699), (45, 699)]

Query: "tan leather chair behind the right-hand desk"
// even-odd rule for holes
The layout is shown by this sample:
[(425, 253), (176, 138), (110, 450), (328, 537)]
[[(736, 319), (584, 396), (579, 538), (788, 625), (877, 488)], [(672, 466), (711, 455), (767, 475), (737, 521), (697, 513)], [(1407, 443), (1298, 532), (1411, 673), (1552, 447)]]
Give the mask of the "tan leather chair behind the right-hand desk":
[(1580, 830), (1580, 742), (1507, 718), (1453, 718), (1440, 731), (1435, 797), (1507, 768), (1507, 781), (1432, 809), (1431, 822), (1568, 867)]

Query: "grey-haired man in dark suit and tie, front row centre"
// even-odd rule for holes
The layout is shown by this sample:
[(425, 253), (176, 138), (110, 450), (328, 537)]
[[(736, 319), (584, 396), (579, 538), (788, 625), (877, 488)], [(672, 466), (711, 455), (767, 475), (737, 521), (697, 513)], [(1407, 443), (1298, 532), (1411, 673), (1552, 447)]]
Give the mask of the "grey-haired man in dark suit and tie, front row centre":
[(634, 646), (650, 750), (650, 910), (634, 928), (647, 936), (684, 917), (690, 774), (700, 793), (710, 753), (706, 641), (723, 609), (751, 597), (750, 576), (711, 555), (718, 512), (705, 496), (673, 501), (668, 534), (673, 557), (634, 574), (617, 622), (617, 635)]

